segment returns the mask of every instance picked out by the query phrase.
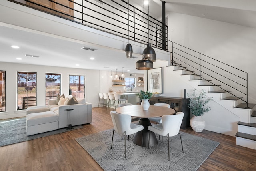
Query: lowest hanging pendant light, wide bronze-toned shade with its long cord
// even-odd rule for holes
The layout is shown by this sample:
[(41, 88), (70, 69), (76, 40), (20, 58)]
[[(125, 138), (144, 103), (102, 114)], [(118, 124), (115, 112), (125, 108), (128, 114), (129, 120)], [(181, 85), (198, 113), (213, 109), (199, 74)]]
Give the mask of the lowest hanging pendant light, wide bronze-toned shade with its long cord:
[[(144, 36), (143, 36), (143, 44), (145, 46), (145, 21), (144, 21), (145, 17), (144, 17), (144, 0), (143, 0), (143, 32), (144, 32)], [(143, 51), (144, 52), (144, 51)], [(146, 55), (142, 54), (142, 60), (138, 60), (136, 62), (136, 69), (137, 70), (149, 70), (153, 68), (153, 62), (151, 60), (147, 59)]]

